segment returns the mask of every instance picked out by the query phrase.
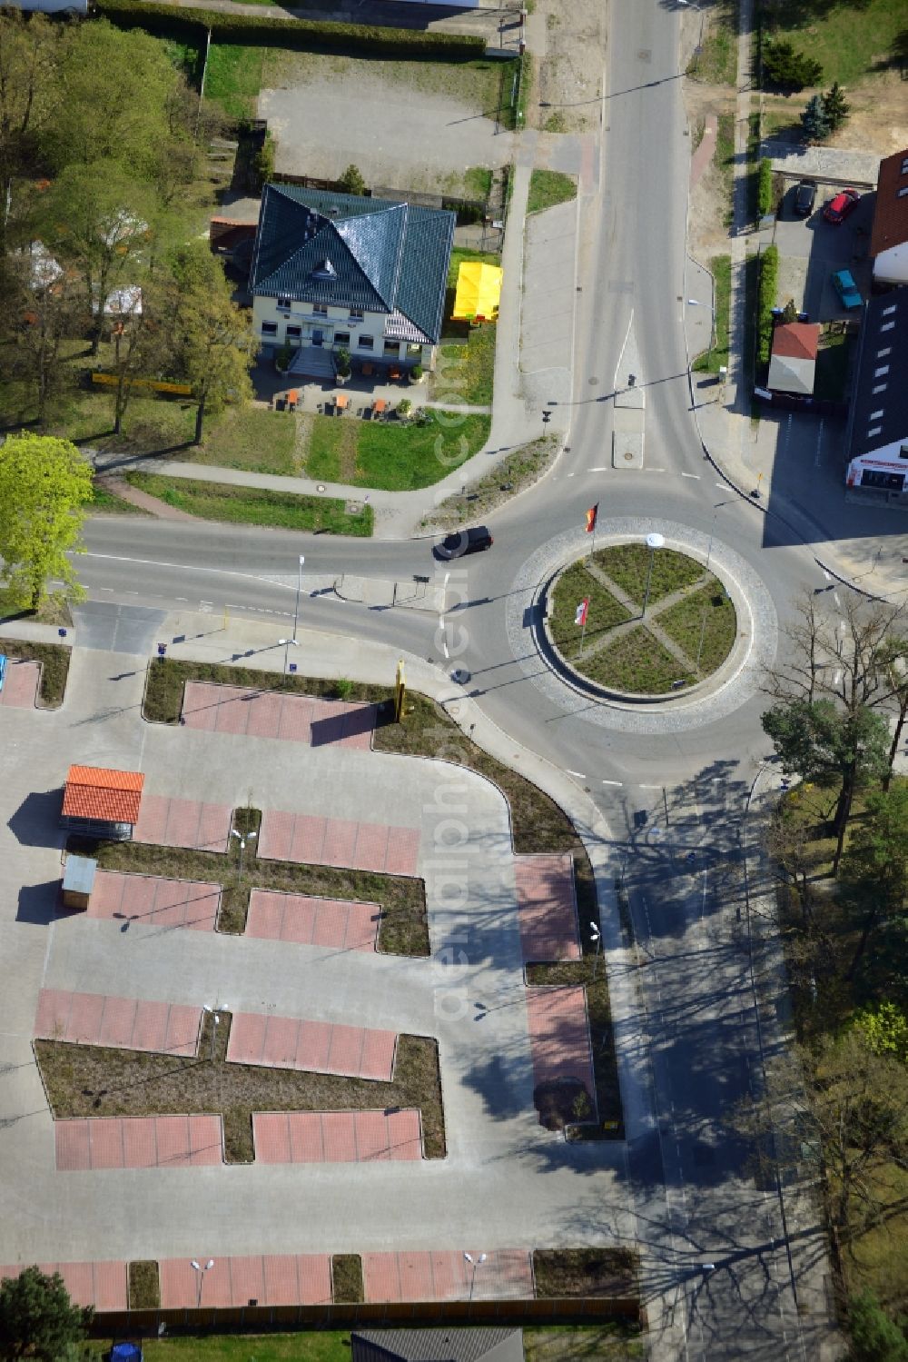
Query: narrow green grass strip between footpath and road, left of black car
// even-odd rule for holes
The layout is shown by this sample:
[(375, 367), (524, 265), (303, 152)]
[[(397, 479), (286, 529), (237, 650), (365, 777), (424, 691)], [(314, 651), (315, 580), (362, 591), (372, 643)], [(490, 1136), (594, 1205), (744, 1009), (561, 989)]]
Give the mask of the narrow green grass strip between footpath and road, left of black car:
[(358, 538), (372, 534), (372, 507), (348, 515), (339, 497), (297, 497), (286, 492), (196, 482), (195, 478), (167, 478), (157, 473), (127, 473), (125, 481), (201, 520), (265, 524)]

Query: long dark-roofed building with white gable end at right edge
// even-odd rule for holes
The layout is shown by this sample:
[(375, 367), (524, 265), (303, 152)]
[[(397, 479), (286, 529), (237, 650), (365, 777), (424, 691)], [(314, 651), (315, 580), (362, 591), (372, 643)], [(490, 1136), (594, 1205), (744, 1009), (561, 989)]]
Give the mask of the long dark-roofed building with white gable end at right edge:
[(849, 488), (908, 500), (908, 289), (870, 298), (848, 421)]

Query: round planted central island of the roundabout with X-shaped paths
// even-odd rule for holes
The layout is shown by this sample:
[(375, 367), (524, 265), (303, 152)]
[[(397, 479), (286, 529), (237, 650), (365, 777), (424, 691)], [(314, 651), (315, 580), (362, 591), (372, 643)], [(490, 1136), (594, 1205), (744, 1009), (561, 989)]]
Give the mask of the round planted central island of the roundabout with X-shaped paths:
[(687, 693), (730, 658), (738, 617), (708, 561), (660, 534), (610, 542), (546, 588), (546, 633), (561, 669), (606, 695)]

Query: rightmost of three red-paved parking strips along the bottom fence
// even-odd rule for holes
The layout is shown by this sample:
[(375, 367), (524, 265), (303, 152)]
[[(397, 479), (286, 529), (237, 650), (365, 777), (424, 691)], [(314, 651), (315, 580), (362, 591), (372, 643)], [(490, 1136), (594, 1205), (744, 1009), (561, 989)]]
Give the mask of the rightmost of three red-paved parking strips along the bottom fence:
[[(482, 1250), (470, 1249), (474, 1258)], [(366, 1301), (466, 1301), (472, 1268), (463, 1250), (363, 1253)], [(532, 1265), (527, 1249), (489, 1249), (476, 1268), (476, 1301), (520, 1301), (532, 1297)]]

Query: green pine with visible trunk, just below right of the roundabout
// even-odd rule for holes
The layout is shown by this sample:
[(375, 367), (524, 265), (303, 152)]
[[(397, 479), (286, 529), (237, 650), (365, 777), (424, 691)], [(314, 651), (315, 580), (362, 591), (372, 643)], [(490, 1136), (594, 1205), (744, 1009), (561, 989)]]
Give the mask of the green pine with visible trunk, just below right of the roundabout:
[(773, 706), (761, 722), (784, 771), (805, 780), (841, 779), (833, 816), (839, 839), (833, 873), (837, 873), (855, 791), (864, 780), (882, 779), (886, 771), (889, 729), (885, 719), (866, 706), (841, 710), (830, 699), (795, 699)]

